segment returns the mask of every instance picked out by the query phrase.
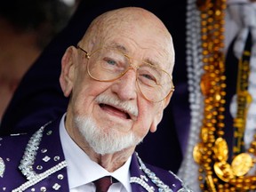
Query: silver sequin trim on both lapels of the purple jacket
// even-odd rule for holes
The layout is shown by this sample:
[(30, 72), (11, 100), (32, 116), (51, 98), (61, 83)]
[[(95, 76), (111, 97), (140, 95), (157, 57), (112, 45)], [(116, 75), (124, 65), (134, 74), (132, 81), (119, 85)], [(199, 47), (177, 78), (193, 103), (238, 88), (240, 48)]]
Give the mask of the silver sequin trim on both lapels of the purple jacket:
[[(48, 124), (51, 124), (51, 122)], [(28, 181), (23, 183), (19, 188), (13, 189), (12, 192), (24, 191), (27, 188), (34, 186), (36, 183), (38, 183), (41, 180), (44, 180), (48, 176), (52, 175), (54, 172), (58, 172), (61, 169), (63, 169), (64, 167), (67, 167), (67, 162), (64, 160), (64, 161), (60, 162), (59, 164), (56, 164), (52, 168), (47, 169), (45, 172), (36, 173), (36, 171), (33, 169), (33, 166), (36, 161), (37, 150), (39, 149), (40, 142), (43, 138), (44, 128), (48, 124), (44, 124), (44, 126), (42, 126), (37, 132), (35, 132), (32, 135), (32, 137), (30, 138), (30, 140), (28, 141), (28, 145), (25, 149), (24, 155), (20, 161), (20, 166), (19, 166), (20, 171), (27, 178)], [(46, 134), (48, 134), (48, 133), (49, 132), (47, 132)], [(51, 133), (49, 133), (49, 134), (51, 134)], [(136, 152), (135, 152), (135, 155), (140, 164), (140, 170), (142, 172), (144, 172), (146, 175), (144, 175), (144, 176), (140, 175), (140, 177), (132, 176), (130, 179), (130, 183), (139, 184), (141, 187), (145, 188), (146, 191), (153, 192), (153, 191), (155, 191), (155, 188), (148, 185), (147, 181), (149, 178), (149, 180), (151, 180), (157, 186), (158, 191), (172, 192), (172, 189), (169, 188), (167, 185), (165, 185), (164, 182), (156, 176), (155, 172), (152, 172), (148, 169), (148, 167), (142, 162), (142, 160), (140, 159), (140, 156), (138, 156), (138, 154)], [(47, 159), (45, 159), (45, 161), (47, 161)], [(176, 178), (176, 180), (180, 180), (172, 172), (170, 172), (170, 174), (172, 174)], [(181, 180), (180, 180), (180, 182), (183, 186), (183, 183)], [(56, 187), (56, 189), (57, 189), (57, 187)], [(189, 190), (185, 186), (183, 186), (183, 188), (181, 188), (178, 191), (179, 192), (191, 192), (191, 190)]]

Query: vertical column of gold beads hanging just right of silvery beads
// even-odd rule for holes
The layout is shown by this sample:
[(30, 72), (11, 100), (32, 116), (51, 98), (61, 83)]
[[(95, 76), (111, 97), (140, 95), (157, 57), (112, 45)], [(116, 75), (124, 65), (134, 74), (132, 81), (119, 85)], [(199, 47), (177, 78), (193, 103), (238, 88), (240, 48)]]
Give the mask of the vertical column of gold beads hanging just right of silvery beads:
[(220, 150), (220, 148), (228, 150), (225, 140), (222, 140), (226, 95), (223, 54), (226, 1), (197, 1), (197, 5), (201, 11), (204, 62), (201, 90), (204, 94), (204, 119), (201, 128), (202, 141), (194, 149), (194, 158), (201, 166), (200, 188), (204, 191), (220, 191), (223, 186), (219, 183), (219, 178), (226, 177), (223, 170), (226, 164), (216, 164), (216, 161), (228, 159), (228, 154)]

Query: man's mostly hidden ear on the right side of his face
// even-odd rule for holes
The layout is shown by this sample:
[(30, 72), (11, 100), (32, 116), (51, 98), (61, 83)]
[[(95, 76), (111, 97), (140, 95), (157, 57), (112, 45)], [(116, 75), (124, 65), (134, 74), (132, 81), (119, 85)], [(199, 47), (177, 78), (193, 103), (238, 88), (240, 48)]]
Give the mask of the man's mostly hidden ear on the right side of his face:
[(153, 122), (150, 126), (150, 132), (156, 132), (157, 125), (161, 122), (164, 115), (164, 108), (166, 108), (172, 98), (172, 92), (162, 101), (161, 107), (158, 109), (158, 113), (153, 119)]

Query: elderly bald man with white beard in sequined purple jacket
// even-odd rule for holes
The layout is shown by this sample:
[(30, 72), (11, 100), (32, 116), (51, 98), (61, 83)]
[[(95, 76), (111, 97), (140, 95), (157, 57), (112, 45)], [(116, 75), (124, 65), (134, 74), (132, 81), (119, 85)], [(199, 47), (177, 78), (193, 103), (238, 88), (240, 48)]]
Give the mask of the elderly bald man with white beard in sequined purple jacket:
[(189, 191), (134, 152), (171, 99), (173, 64), (172, 36), (151, 12), (93, 20), (61, 60), (67, 113), (0, 140), (0, 191)]

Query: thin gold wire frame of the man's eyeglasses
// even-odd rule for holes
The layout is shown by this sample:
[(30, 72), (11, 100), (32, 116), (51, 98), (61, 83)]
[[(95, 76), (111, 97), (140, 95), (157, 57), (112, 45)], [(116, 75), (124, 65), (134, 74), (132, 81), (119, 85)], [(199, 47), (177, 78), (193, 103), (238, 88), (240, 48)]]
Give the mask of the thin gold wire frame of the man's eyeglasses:
[[(94, 52), (98, 52), (98, 51), (99, 51), (100, 49), (102, 49), (102, 48), (103, 48), (103, 47), (98, 48), (98, 49), (96, 49), (96, 50), (93, 51), (93, 52), (86, 52), (81, 46), (79, 46), (78, 44), (76, 45), (76, 49), (79, 49), (79, 50), (81, 50), (82, 52), (85, 53), (85, 58), (86, 58), (87, 60), (90, 60), (91, 55), (92, 55)], [(122, 52), (120, 52), (120, 53), (122, 53)], [(122, 54), (124, 54), (124, 53), (122, 53)], [(132, 59), (132, 58), (131, 58), (130, 56), (128, 56), (127, 54), (124, 54), (124, 56), (127, 57), (129, 60)], [(147, 62), (146, 62), (146, 63), (147, 63)], [(148, 64), (149, 64), (149, 63), (148, 63)], [(149, 64), (149, 65), (150, 65), (150, 64)], [(129, 71), (129, 70), (131, 69), (131, 67), (134, 68), (134, 66), (132, 65), (132, 62), (131, 62), (130, 65), (129, 65), (129, 67), (128, 67), (127, 69), (125, 69), (124, 72), (120, 74), (120, 76), (117, 76), (116, 78), (110, 79), (110, 80), (100, 80), (99, 78), (95, 78), (94, 76), (92, 76), (91, 72), (89, 71), (89, 67), (88, 67), (88, 66), (89, 66), (89, 65), (86, 66), (88, 75), (91, 76), (92, 79), (94, 79), (94, 80), (96, 80), (96, 81), (99, 81), (99, 82), (114, 82), (114, 81), (116, 81), (116, 79), (119, 79), (120, 77), (124, 76), (124, 75), (127, 73), (127, 71)], [(159, 67), (157, 67), (157, 68), (159, 68)], [(174, 85), (173, 85), (173, 82), (172, 82), (172, 77), (171, 77), (171, 75), (170, 75), (167, 71), (165, 71), (164, 69), (162, 69), (162, 68), (159, 68), (159, 69), (163, 70), (164, 73), (166, 73), (166, 74), (170, 77), (171, 83), (172, 83), (170, 91), (168, 92), (168, 94), (167, 94), (167, 95), (164, 97), (164, 99), (162, 99), (162, 100), (157, 100), (157, 101), (156, 101), (156, 100), (149, 100), (148, 97), (140, 90), (140, 85), (139, 85), (138, 80), (137, 80), (137, 77), (136, 77), (136, 82), (137, 82), (137, 85), (138, 85), (138, 87), (139, 87), (140, 93), (143, 95), (143, 97), (144, 97), (146, 100), (151, 101), (151, 102), (161, 102), (161, 101), (165, 100), (172, 92), (175, 91)], [(136, 68), (136, 73), (137, 73), (137, 68)]]

